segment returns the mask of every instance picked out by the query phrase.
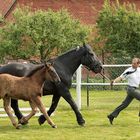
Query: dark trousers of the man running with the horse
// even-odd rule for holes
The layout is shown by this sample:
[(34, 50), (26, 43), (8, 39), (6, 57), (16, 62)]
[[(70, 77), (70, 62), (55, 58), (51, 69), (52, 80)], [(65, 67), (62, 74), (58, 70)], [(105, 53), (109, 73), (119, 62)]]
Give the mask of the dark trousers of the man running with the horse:
[(119, 113), (123, 109), (125, 109), (134, 98), (140, 101), (140, 90), (135, 87), (128, 86), (126, 98), (110, 115), (116, 118)]

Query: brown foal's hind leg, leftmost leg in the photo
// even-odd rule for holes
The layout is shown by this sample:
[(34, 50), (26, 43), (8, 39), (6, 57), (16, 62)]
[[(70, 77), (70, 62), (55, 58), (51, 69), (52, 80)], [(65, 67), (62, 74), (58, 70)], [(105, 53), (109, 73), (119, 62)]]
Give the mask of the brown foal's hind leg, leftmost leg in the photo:
[(10, 106), (10, 97), (4, 97), (3, 98), (3, 104), (4, 104), (4, 109), (7, 113), (7, 115), (9, 116), (13, 126), (16, 128), (16, 129), (19, 129), (21, 125), (19, 125), (16, 120), (14, 119), (14, 116), (12, 114), (12, 111), (11, 111), (11, 106)]

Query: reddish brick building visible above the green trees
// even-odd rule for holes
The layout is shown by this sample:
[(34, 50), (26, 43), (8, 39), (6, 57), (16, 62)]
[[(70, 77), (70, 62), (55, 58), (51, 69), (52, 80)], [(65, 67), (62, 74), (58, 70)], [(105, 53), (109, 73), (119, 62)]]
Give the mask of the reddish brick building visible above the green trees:
[[(137, 8), (140, 8), (140, 0), (121, 0), (121, 2), (127, 1), (135, 3)], [(95, 23), (103, 2), (104, 0), (0, 0), (0, 13), (3, 17), (10, 19), (12, 11), (18, 5), (30, 5), (32, 8), (45, 10), (65, 8), (81, 22), (92, 24)]]

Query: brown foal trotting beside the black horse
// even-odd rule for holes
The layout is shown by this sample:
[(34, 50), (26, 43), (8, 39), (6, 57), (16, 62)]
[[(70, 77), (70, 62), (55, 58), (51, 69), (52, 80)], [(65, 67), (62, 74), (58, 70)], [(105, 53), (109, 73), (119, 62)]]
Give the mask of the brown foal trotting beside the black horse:
[(23, 117), (20, 122), (28, 121), (33, 115), (37, 112), (37, 107), (43, 113), (48, 123), (56, 128), (57, 126), (50, 119), (45, 106), (41, 101), (42, 96), (42, 85), (45, 80), (50, 80), (52, 82), (60, 82), (60, 78), (57, 75), (55, 69), (51, 64), (47, 63), (46, 65), (40, 65), (37, 68), (33, 69), (25, 77), (16, 77), (9, 74), (0, 74), (0, 98), (4, 101), (4, 109), (8, 114), (13, 126), (17, 129), (20, 128), (13, 117), (11, 112), (10, 100), (13, 99), (22, 99), (29, 101), (32, 111), (26, 117)]

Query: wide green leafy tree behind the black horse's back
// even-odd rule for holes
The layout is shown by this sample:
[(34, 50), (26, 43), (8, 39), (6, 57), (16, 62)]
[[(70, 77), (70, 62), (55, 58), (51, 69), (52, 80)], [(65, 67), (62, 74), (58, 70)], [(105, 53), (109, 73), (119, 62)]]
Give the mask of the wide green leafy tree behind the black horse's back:
[(14, 22), (7, 22), (0, 32), (1, 53), (12, 58), (39, 55), (44, 60), (53, 50), (60, 54), (82, 44), (90, 32), (64, 9), (33, 12), (30, 7), (23, 7), (17, 8), (13, 16)]

